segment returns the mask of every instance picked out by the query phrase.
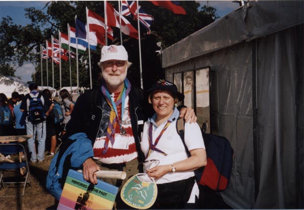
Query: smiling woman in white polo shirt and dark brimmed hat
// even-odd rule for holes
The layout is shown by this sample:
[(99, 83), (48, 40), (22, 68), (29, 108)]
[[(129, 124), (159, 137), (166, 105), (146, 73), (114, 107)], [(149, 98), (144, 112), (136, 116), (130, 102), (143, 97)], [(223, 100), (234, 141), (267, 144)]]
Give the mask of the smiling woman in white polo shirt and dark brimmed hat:
[(196, 208), (199, 188), (194, 170), (207, 164), (201, 129), (197, 123), (185, 123), (184, 139), (191, 153), (188, 158), (176, 131), (179, 111), (174, 108), (184, 95), (166, 80), (159, 80), (148, 92), (148, 101), (156, 113), (144, 124), (141, 149), (146, 155), (143, 168), (158, 186), (151, 208)]

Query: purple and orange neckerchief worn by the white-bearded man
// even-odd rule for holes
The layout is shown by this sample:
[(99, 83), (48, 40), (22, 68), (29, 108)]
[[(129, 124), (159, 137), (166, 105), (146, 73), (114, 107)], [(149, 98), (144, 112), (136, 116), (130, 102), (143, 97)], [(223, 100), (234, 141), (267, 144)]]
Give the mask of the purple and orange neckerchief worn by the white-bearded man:
[[(105, 154), (107, 152), (109, 141), (111, 141), (112, 145), (114, 144), (115, 139), (114, 139), (113, 135), (115, 134), (114, 125), (116, 122), (119, 123), (120, 134), (122, 134), (122, 135), (126, 134), (126, 131), (122, 128), (122, 121), (123, 121), (123, 114), (124, 114), (124, 109), (125, 109), (125, 99), (126, 99), (126, 95), (129, 94), (130, 89), (131, 89), (131, 84), (130, 84), (129, 80), (126, 78), (124, 81), (123, 90), (121, 91), (120, 95), (118, 96), (116, 102), (114, 102), (110, 96), (109, 91), (106, 89), (104, 80), (102, 80), (101, 91), (102, 91), (103, 95), (105, 96), (105, 99), (111, 108), (109, 126), (106, 130), (107, 138), (105, 138), (105, 141), (104, 141), (104, 149), (102, 151), (102, 154)], [(122, 121), (120, 121), (118, 119), (118, 112), (117, 112), (117, 107), (120, 104), (122, 104), (121, 105), (122, 106), (122, 112), (121, 112)]]

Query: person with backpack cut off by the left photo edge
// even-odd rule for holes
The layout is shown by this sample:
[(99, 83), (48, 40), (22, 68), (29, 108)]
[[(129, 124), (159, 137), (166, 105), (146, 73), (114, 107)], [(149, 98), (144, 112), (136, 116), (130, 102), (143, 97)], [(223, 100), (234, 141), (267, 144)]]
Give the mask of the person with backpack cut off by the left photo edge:
[(4, 93), (0, 93), (0, 136), (14, 135), (13, 107)]

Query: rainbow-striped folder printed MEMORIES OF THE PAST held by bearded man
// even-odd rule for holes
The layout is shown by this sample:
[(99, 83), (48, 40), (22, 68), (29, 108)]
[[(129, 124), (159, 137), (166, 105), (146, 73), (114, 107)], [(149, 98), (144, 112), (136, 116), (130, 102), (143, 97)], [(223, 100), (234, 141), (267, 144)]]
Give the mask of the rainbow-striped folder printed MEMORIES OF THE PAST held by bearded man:
[(57, 209), (112, 209), (117, 193), (118, 187), (101, 180), (93, 185), (82, 173), (70, 169)]

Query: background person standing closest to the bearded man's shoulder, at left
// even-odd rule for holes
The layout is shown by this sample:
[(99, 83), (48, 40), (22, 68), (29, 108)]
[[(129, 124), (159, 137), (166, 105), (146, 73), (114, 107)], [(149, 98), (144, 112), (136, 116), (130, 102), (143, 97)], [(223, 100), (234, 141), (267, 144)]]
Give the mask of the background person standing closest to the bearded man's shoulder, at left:
[(71, 113), (74, 109), (74, 103), (72, 102), (72, 99), (70, 97), (69, 92), (66, 89), (60, 90), (59, 95), (62, 99), (62, 110), (64, 113), (64, 120), (61, 124), (62, 131), (61, 136), (63, 136), (66, 133), (66, 124), (71, 119)]

